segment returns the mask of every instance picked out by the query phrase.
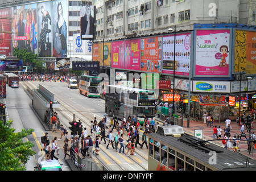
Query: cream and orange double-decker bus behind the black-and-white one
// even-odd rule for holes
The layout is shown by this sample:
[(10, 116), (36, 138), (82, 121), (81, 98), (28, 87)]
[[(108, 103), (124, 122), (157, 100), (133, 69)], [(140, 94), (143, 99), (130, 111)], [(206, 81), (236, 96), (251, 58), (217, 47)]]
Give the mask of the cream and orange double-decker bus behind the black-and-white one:
[(100, 97), (101, 78), (81, 75), (79, 81), (79, 93), (87, 97)]

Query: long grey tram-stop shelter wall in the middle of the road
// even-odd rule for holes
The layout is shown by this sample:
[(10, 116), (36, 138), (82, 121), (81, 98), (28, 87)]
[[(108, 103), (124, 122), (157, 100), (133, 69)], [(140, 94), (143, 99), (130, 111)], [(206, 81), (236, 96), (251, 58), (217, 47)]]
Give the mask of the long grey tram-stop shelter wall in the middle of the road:
[[(39, 117), (40, 122), (46, 130), (51, 130), (51, 116), (53, 109), (59, 108), (60, 103), (54, 98), (54, 93), (43, 85), (39, 84), (38, 89), (31, 90), (32, 107)], [(52, 109), (51, 104), (52, 102)]]

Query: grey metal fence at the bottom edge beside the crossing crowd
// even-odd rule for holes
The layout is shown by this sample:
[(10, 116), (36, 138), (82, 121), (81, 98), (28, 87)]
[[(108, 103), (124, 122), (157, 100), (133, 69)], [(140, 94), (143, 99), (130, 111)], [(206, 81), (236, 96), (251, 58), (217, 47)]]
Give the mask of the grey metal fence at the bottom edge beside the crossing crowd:
[(93, 162), (90, 159), (82, 159), (73, 147), (70, 148), (70, 154), (75, 166), (80, 171), (108, 171), (108, 169), (100, 163)]

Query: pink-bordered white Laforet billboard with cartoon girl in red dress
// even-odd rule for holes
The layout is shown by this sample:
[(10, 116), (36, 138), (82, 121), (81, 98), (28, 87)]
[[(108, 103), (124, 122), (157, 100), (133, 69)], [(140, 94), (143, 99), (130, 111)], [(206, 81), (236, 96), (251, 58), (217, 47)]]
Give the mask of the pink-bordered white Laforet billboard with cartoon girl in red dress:
[(229, 76), (230, 30), (197, 30), (195, 76)]

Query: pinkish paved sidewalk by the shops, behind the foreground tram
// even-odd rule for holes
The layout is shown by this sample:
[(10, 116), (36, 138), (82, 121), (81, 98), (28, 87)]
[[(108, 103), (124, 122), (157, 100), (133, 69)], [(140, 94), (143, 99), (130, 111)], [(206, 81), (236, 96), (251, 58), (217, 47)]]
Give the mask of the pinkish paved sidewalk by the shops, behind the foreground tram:
[[(163, 122), (162, 119), (160, 118), (157, 118), (155, 117), (155, 121), (156, 122)], [(163, 123), (160, 123), (160, 125), (162, 125)], [(203, 121), (196, 121), (195, 118), (192, 118), (190, 117), (190, 120), (189, 120), (189, 127), (187, 127), (187, 118), (184, 118), (183, 119), (183, 130), (184, 132), (188, 133), (188, 134), (191, 134), (191, 135), (194, 135), (194, 130), (195, 129), (203, 129), (203, 139), (204, 140), (212, 140), (213, 139), (213, 129), (214, 129), (214, 126), (221, 126), (221, 129), (222, 129), (222, 132), (224, 134), (224, 129), (226, 127), (226, 123), (225, 122), (213, 122), (213, 126), (212, 127), (207, 127), (207, 124), (204, 124)], [(241, 135), (240, 133), (240, 129), (241, 129), (241, 126), (238, 126), (238, 123), (237, 122), (231, 122), (231, 125), (232, 126), (232, 130), (231, 130), (231, 137), (233, 138), (234, 135)], [(245, 134), (246, 134), (246, 137), (248, 138), (249, 137), (249, 133), (247, 133), (247, 129), (245, 129)], [(221, 135), (221, 137), (223, 137), (223, 135)], [(216, 138), (215, 138), (216, 139)], [(242, 137), (242, 139), (245, 139), (245, 137)], [(218, 146), (222, 147), (222, 142), (221, 140), (216, 140), (216, 141), (211, 141), (212, 143), (214, 144), (217, 144)], [(228, 150), (228, 149), (227, 149)], [(238, 152), (238, 150), (237, 150)], [(251, 154), (249, 155), (249, 152), (247, 151), (247, 142), (242, 140), (240, 142), (240, 153), (243, 154), (243, 155), (246, 155), (250, 158), (253, 158), (253, 159), (256, 159), (256, 150), (253, 149), (251, 151)], [(253, 153), (253, 155), (252, 155)]]

